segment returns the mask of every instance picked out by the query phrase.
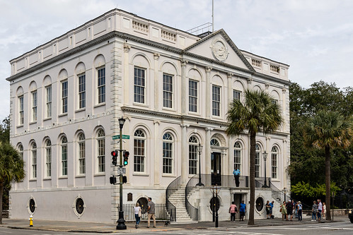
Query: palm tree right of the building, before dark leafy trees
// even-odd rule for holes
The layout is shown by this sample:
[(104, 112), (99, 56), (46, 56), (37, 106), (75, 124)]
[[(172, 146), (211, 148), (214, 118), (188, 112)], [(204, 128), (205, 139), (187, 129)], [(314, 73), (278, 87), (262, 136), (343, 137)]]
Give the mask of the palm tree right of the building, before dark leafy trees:
[(352, 120), (345, 119), (339, 112), (321, 110), (313, 116), (306, 126), (304, 140), (307, 147), (325, 151), (326, 219), (331, 220), (330, 152), (335, 147), (348, 147), (352, 142)]

